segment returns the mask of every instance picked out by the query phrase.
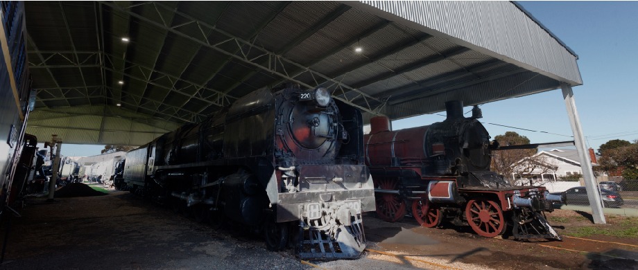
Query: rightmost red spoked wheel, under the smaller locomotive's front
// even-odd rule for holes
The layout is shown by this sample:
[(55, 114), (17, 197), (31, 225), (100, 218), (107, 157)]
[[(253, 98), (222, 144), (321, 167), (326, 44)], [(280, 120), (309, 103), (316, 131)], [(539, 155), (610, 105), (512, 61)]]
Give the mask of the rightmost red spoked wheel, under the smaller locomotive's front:
[(494, 201), (471, 199), (465, 206), (467, 223), (478, 235), (494, 237), (503, 234), (506, 228), (503, 210)]

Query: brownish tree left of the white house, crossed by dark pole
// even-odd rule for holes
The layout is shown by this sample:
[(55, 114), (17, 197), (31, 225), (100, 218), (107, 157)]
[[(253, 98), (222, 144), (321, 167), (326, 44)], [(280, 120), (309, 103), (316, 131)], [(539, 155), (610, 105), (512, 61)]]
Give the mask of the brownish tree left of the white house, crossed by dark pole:
[[(494, 141), (497, 141), (500, 146), (526, 145), (530, 143), (529, 138), (516, 132), (505, 132), (503, 135), (497, 135), (494, 137)], [(536, 152), (537, 149), (535, 148), (494, 151), (492, 152), (492, 171), (511, 178), (515, 169), (512, 165), (533, 156)]]

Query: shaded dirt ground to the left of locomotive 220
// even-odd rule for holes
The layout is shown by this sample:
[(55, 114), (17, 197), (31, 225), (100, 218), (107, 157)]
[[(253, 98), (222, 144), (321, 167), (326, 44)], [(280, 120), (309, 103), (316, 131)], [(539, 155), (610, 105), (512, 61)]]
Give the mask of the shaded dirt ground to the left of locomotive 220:
[(212, 230), (129, 194), (32, 200), (0, 269), (309, 269), (260, 235)]

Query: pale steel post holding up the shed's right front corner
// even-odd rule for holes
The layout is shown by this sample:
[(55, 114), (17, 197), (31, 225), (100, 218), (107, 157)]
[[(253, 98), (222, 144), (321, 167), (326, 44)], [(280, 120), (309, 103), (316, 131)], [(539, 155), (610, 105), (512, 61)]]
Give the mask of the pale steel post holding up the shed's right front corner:
[(589, 205), (592, 206), (594, 224), (606, 224), (605, 215), (603, 215), (603, 206), (601, 205), (601, 195), (596, 187), (596, 179), (594, 179), (592, 161), (589, 159), (589, 151), (585, 146), (583, 127), (580, 126), (580, 116), (578, 116), (578, 110), (576, 109), (574, 91), (571, 90), (571, 86), (569, 86), (569, 84), (561, 83), (560, 87), (562, 88), (562, 97), (565, 100), (565, 107), (567, 108), (567, 116), (569, 116), (571, 131), (574, 133), (574, 144), (576, 145), (576, 152), (578, 152), (580, 168), (583, 170), (587, 199), (589, 199)]

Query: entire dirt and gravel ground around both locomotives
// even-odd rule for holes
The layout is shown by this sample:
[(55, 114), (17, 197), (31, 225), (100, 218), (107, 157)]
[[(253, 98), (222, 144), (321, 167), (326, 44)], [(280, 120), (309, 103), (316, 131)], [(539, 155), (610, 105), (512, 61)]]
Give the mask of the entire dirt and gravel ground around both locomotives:
[[(479, 237), (463, 227), (422, 228), (408, 217), (383, 222), (374, 213), (363, 218), (368, 251), (361, 258), (309, 265), (291, 250), (266, 250), (261, 235), (245, 228), (214, 230), (129, 192), (29, 203), (22, 217), (11, 219), (0, 269), (638, 269), (638, 246), (613, 244), (638, 244), (635, 239), (516, 242)], [(549, 219), (567, 228), (592, 226), (587, 216), (569, 210)], [(623, 224), (610, 218), (610, 224), (596, 226)]]

